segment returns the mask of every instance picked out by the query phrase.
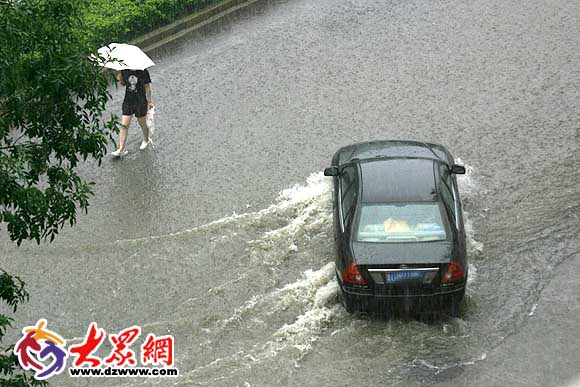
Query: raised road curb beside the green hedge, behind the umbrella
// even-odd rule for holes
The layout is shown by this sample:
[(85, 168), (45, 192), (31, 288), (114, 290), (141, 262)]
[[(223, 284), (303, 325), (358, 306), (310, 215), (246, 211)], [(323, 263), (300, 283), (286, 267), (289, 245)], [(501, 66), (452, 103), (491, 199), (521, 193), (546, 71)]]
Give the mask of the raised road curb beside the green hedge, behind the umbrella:
[(131, 43), (141, 47), (145, 52), (151, 52), (170, 43), (191, 31), (218, 20), (238, 9), (245, 8), (258, 0), (224, 0), (208, 8), (204, 8), (189, 16), (181, 18), (165, 27), (151, 31)]

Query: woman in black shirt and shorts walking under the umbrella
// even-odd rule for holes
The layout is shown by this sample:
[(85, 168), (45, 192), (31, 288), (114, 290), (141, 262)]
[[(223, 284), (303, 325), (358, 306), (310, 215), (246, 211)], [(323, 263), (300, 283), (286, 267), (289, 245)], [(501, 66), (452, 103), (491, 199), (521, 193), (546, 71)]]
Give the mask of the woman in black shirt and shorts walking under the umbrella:
[(133, 115), (143, 130), (143, 142), (139, 149), (146, 149), (152, 144), (149, 138), (147, 126), (147, 110), (153, 107), (151, 99), (151, 77), (147, 70), (121, 70), (117, 71), (117, 81), (125, 86), (125, 99), (123, 100), (123, 116), (121, 117), (121, 130), (119, 133), (119, 149), (111, 155), (119, 157), (128, 153), (126, 149), (127, 134)]

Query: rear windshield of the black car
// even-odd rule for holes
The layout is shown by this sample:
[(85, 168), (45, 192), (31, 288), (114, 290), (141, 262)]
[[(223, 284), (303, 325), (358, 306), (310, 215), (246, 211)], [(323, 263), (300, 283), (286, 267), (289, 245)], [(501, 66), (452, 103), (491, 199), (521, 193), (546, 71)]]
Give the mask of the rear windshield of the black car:
[(438, 203), (363, 204), (358, 242), (432, 242), (447, 239)]

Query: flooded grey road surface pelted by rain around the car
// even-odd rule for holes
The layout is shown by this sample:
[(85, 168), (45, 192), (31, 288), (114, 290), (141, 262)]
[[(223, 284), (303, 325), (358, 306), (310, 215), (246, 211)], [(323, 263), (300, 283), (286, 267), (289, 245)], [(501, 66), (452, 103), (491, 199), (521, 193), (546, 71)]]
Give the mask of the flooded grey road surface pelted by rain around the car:
[[(134, 123), (126, 158), (83, 166), (97, 183), (89, 214), (52, 245), (2, 235), (0, 265), (31, 293), (16, 326), (44, 317), (77, 341), (91, 321), (175, 336), (178, 379), (55, 385), (578, 377), (566, 357), (577, 331), (544, 344), (546, 359), (501, 351), (544, 335), (534, 319), (569, 281), (559, 267), (580, 260), (579, 25), (580, 7), (559, 1), (260, 1), (153, 53), (155, 148), (138, 151)], [(442, 143), (468, 166), (459, 319), (352, 317), (336, 300), (321, 171), (338, 147), (373, 139)], [(577, 320), (570, 310), (558, 318)], [(551, 379), (518, 381), (508, 356), (523, 373), (562, 361)]]

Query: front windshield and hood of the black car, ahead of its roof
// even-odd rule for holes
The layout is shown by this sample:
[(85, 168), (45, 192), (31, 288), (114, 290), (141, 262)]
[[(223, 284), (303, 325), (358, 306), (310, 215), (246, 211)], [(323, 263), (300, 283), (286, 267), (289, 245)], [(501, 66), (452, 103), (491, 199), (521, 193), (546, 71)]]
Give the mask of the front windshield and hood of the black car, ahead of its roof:
[(449, 153), (439, 144), (418, 141), (370, 141), (340, 148), (335, 155), (334, 165), (342, 165), (351, 160), (375, 157), (423, 157), (448, 163)]

